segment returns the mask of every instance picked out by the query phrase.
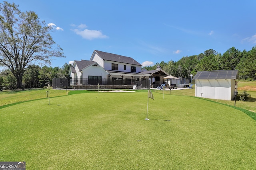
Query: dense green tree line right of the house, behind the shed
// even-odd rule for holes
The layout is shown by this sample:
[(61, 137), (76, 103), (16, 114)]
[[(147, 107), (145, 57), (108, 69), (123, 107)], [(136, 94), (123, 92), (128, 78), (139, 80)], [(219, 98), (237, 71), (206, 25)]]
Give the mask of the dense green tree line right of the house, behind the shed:
[(199, 55), (182, 57), (179, 61), (169, 61), (144, 66), (146, 70), (156, 70), (156, 66), (176, 77), (189, 78), (198, 71), (238, 70), (239, 79), (256, 80), (256, 46), (250, 51), (240, 51), (235, 47), (228, 49), (223, 55), (208, 49)]

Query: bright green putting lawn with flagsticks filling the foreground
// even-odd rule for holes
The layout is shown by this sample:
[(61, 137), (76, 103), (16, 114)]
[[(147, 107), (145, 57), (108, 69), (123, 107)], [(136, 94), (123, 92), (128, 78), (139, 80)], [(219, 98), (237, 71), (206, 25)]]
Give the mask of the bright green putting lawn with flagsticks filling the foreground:
[(0, 107), (0, 161), (27, 170), (256, 167), (256, 121), (238, 109), (152, 90), (146, 121), (147, 90), (83, 92)]

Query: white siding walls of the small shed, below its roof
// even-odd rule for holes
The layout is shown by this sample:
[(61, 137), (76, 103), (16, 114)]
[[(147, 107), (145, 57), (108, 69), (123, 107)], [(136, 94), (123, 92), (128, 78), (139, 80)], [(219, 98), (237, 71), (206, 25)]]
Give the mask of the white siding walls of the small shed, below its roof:
[(231, 100), (234, 80), (196, 80), (195, 96), (219, 100)]

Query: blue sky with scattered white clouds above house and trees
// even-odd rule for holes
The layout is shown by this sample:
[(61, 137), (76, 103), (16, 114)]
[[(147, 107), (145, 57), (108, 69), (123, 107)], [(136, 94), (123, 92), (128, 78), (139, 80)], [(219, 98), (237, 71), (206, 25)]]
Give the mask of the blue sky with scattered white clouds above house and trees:
[(7, 0), (52, 25), (66, 58), (94, 50), (132, 57), (144, 66), (178, 61), (207, 49), (249, 51), (256, 45), (255, 0)]

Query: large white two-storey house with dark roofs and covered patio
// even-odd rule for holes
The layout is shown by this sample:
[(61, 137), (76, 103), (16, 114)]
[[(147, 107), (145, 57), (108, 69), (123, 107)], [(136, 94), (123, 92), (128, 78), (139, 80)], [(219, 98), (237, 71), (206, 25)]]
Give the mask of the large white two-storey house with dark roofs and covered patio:
[(168, 74), (160, 66), (142, 70), (131, 57), (94, 50), (90, 61), (74, 61), (70, 67), (70, 86), (83, 89), (149, 88), (160, 85)]

